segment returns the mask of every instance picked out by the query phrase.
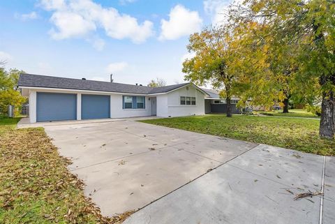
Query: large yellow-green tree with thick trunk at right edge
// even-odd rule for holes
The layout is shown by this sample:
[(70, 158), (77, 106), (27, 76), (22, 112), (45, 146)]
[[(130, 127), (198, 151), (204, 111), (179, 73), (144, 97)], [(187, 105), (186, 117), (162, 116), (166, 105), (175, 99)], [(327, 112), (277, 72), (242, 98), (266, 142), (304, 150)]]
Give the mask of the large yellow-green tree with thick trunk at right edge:
[[(233, 6), (229, 14), (235, 26), (258, 22), (267, 27), (260, 38), (274, 50), (269, 58), (279, 56), (275, 71), (288, 66), (290, 75), (285, 82), (289, 81), (289, 94), (295, 93), (305, 101), (322, 98), (320, 136), (333, 138), (335, 2), (246, 0), (241, 6)], [(285, 70), (280, 73), (288, 74)]]

